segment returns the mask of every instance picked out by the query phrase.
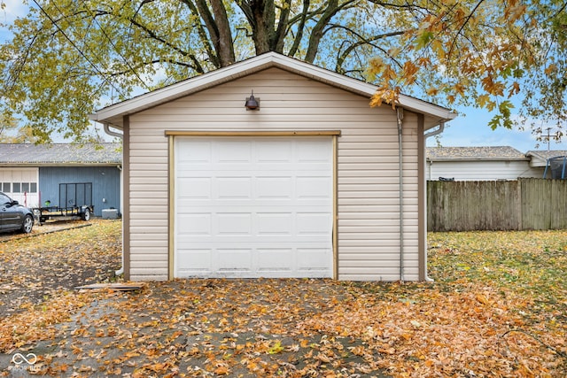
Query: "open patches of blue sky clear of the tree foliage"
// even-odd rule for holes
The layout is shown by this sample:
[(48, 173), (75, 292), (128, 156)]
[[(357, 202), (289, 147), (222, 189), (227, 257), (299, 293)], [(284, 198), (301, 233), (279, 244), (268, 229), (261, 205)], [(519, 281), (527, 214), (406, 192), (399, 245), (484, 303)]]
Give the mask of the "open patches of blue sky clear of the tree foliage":
[[(16, 16), (23, 16), (27, 12), (27, 4), (22, 4), (21, 0), (3, 0), (6, 7), (0, 11), (0, 23), (11, 23)], [(0, 42), (3, 42), (9, 33), (7, 30), (0, 29)], [(461, 107), (456, 109), (462, 113), (459, 117), (447, 123), (445, 131), (440, 135), (439, 143), (444, 147), (471, 147), (471, 146), (511, 146), (521, 152), (528, 150), (548, 150), (547, 143), (540, 143), (532, 136), (530, 130), (508, 130), (500, 128), (492, 130), (488, 127), (491, 114), (487, 111), (475, 108)], [(101, 135), (104, 132), (101, 133)], [(112, 138), (109, 138), (112, 140)], [(57, 141), (62, 142), (62, 141)], [(437, 145), (437, 140), (429, 138), (428, 146)], [(563, 143), (552, 141), (549, 145), (550, 150), (567, 150), (567, 140)]]

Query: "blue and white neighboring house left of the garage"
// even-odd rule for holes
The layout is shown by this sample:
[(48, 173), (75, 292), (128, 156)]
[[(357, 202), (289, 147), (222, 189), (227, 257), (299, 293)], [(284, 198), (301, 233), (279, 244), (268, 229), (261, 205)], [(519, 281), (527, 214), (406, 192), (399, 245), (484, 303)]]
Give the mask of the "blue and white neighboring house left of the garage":
[[(121, 165), (119, 143), (0, 144), (0, 189), (27, 207), (43, 206), (46, 201), (68, 207), (58, 203), (59, 190), (77, 188), (67, 198), (90, 194), (94, 215), (100, 216), (103, 209), (120, 210)], [(86, 185), (61, 185), (66, 183)], [(91, 193), (83, 196), (82, 188)]]

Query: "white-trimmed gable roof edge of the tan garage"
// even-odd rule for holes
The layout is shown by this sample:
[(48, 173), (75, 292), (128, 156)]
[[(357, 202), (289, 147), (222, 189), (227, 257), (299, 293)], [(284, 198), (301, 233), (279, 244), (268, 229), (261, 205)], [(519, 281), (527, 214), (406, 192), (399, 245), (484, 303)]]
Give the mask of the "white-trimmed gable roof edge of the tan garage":
[[(367, 82), (359, 81), (276, 52), (268, 52), (237, 62), (231, 66), (226, 66), (210, 73), (204, 73), (185, 81), (179, 81), (162, 89), (153, 90), (144, 95), (107, 106), (91, 114), (89, 118), (90, 120), (96, 120), (103, 124), (122, 128), (123, 116), (125, 115), (142, 112), (153, 106), (165, 104), (177, 98), (216, 87), (224, 82), (233, 81), (271, 67), (297, 73), (300, 76), (315, 81), (321, 81), (361, 96), (367, 96), (368, 98), (377, 91), (377, 86)], [(400, 95), (399, 101), (402, 108), (425, 116), (425, 129), (435, 127), (441, 122), (453, 120), (456, 117), (456, 114), (447, 108), (419, 100), (415, 97)]]

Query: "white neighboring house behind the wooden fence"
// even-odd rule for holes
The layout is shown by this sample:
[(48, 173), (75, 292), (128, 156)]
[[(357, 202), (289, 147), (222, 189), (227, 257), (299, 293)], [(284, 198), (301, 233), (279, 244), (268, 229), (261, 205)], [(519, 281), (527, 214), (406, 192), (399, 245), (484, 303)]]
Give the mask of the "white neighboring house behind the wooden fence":
[(543, 166), (509, 146), (428, 147), (427, 180), (488, 181), (543, 177)]

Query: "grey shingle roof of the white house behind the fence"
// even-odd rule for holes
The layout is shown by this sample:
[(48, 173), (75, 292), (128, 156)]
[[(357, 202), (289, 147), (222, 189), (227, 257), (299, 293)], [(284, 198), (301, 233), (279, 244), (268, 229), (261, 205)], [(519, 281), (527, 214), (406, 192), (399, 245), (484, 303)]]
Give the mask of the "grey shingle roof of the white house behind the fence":
[(441, 160), (529, 160), (526, 156), (509, 146), (496, 147), (427, 147), (426, 158)]

